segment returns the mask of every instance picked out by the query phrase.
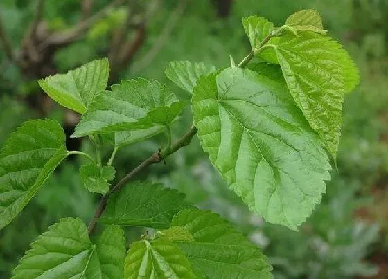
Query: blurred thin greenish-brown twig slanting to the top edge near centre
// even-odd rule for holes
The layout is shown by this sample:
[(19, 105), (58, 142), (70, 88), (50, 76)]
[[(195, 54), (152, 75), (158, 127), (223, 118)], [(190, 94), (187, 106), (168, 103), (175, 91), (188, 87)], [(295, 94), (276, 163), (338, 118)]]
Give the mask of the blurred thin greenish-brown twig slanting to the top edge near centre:
[(141, 60), (139, 60), (138, 62), (134, 62), (134, 64), (132, 65), (132, 72), (134, 73), (139, 72), (142, 69), (145, 69), (149, 64), (152, 63), (152, 61), (155, 59), (159, 51), (161, 51), (161, 48), (163, 48), (164, 44), (166, 44), (166, 42), (168, 41), (168, 38), (170, 37), (170, 33), (173, 31), (179, 18), (184, 13), (187, 3), (188, 3), (188, 0), (180, 1), (177, 8), (172, 12), (172, 15), (170, 15), (170, 17), (168, 18), (166, 25), (164, 26), (163, 30), (161, 30), (159, 37), (156, 39), (155, 44), (152, 46), (150, 51), (146, 55), (144, 55), (144, 57)]

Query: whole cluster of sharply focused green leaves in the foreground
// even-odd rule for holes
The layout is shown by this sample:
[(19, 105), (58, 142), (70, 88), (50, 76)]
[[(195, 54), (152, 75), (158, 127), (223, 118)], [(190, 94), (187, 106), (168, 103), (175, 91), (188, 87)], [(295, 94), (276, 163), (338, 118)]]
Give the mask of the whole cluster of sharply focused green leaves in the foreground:
[[(114, 179), (114, 156), (124, 145), (165, 132), (166, 147), (157, 154), (164, 159), (198, 131), (211, 163), (250, 210), (293, 230), (306, 220), (330, 179), (326, 150), (335, 159), (344, 94), (358, 83), (358, 71), (313, 10), (291, 15), (279, 28), (256, 16), (244, 18), (243, 26), (252, 53), (238, 66), (232, 58), (227, 69), (191, 62), (166, 68), (168, 78), (193, 95), (195, 126), (177, 147), (171, 144), (170, 125), (190, 102), (155, 80), (123, 80), (105, 91), (109, 63), (103, 59), (39, 81), (53, 100), (82, 114), (72, 136), (89, 136), (96, 160), (67, 151), (54, 120), (21, 125), (0, 155), (0, 228), (71, 154), (91, 161), (80, 169), (82, 182), (109, 198), (99, 219), (109, 225), (92, 241), (93, 227), (88, 231), (80, 219), (61, 219), (33, 242), (15, 278), (272, 277), (257, 246), (175, 190), (135, 182), (116, 191), (108, 183)], [(254, 56), (259, 62), (248, 65)], [(103, 137), (114, 148), (106, 163), (99, 153)], [(119, 225), (156, 232), (132, 243), (125, 256)]]

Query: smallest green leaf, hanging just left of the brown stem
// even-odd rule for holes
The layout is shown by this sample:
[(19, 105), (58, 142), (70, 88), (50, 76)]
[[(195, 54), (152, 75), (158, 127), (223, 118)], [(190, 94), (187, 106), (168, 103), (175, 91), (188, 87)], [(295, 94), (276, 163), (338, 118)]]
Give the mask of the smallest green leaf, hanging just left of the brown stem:
[(99, 192), (105, 195), (109, 190), (109, 183), (114, 179), (116, 171), (111, 166), (82, 165), (80, 176), (82, 183), (89, 192)]

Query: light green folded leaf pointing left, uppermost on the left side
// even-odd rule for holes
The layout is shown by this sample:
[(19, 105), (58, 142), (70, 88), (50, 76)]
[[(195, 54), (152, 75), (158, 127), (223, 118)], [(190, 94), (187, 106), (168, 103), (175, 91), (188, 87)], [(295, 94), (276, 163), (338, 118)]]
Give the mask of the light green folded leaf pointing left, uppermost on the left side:
[(58, 104), (84, 114), (94, 98), (105, 91), (108, 76), (109, 62), (104, 58), (39, 80), (39, 85)]

